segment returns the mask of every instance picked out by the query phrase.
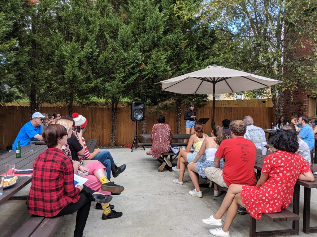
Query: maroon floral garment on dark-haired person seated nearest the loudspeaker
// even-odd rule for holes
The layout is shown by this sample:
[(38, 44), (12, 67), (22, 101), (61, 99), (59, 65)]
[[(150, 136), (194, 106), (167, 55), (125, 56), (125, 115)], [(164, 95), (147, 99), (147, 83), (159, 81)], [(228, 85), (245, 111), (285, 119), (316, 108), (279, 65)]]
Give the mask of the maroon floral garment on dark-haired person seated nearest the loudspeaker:
[(154, 158), (158, 158), (162, 153), (170, 151), (172, 142), (172, 130), (170, 125), (159, 123), (154, 124), (151, 133), (152, 147), (150, 153)]

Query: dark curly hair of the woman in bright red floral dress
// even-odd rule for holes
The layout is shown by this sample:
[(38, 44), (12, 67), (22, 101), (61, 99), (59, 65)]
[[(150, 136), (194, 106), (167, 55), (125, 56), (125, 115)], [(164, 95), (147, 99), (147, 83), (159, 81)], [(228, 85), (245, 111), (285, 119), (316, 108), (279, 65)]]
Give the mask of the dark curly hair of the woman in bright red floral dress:
[(289, 130), (277, 130), (270, 141), (276, 149), (282, 151), (294, 153), (299, 148), (296, 134)]

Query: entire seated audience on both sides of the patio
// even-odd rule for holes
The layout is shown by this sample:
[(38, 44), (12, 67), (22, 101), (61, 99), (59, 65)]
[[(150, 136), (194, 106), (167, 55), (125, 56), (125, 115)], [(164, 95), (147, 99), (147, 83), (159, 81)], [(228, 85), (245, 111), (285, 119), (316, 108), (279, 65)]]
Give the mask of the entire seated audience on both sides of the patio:
[[(109, 151), (94, 149), (90, 153), (82, 134), (88, 121), (78, 113), (73, 113), (72, 117), (35, 112), (19, 131), (13, 149), (17, 141), (24, 146), (29, 141), (44, 140), (48, 149), (38, 155), (33, 164), (28, 210), (45, 217), (77, 211), (74, 236), (82, 237), (92, 201), (96, 202), (96, 209), (102, 210), (103, 220), (122, 216), (122, 212), (114, 211), (109, 202), (110, 195), (120, 194), (124, 187), (110, 179), (111, 173), (117, 177), (126, 165), (118, 167)], [(211, 137), (204, 133), (201, 123), (195, 123), (186, 150), (171, 145), (171, 127), (165, 124), (165, 117), (160, 115), (157, 121), (151, 134), (152, 147), (147, 154), (159, 158), (170, 150), (179, 153), (177, 165), (172, 167), (165, 157), (160, 172), (165, 165), (172, 167), (179, 172), (178, 179), (172, 182), (183, 185), (187, 166), (194, 185), (189, 195), (194, 197), (202, 197), (197, 174), (214, 184), (215, 197), (221, 195), (219, 186), (228, 188), (217, 213), (203, 219), (206, 224), (223, 226), (209, 230), (215, 236), (230, 236), (229, 229), (237, 213), (249, 213), (260, 219), (262, 213), (287, 208), (296, 180), (314, 181), (310, 151), (314, 147), (316, 121), (305, 116), (293, 116), (290, 124), (285, 116), (280, 117), (277, 131), (268, 141), (274, 149), (269, 149), (272, 154), (265, 157), (258, 181), (254, 170), (256, 149), (261, 149), (266, 137), (263, 129), (254, 125), (251, 116), (232, 122), (224, 119), (223, 126), (214, 126)], [(74, 173), (87, 173), (88, 181), (75, 187)], [(221, 218), (225, 212), (223, 224)]]

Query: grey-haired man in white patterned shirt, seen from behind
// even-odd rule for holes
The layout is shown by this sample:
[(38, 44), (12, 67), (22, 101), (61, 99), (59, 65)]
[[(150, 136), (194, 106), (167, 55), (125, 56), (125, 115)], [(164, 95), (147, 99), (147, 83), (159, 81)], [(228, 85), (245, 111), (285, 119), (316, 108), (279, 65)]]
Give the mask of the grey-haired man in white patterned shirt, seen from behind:
[(256, 145), (256, 149), (262, 149), (261, 143), (266, 141), (263, 129), (253, 125), (253, 119), (250, 115), (245, 116), (243, 122), (247, 125), (244, 138), (253, 142)]

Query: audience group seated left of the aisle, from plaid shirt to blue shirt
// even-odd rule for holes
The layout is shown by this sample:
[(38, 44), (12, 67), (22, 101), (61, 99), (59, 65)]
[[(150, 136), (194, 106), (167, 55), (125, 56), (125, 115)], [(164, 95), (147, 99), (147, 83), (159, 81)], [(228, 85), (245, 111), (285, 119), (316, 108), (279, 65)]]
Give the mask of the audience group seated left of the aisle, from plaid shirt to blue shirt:
[[(78, 113), (73, 113), (72, 117), (61, 117), (59, 113), (33, 113), (32, 119), (19, 131), (13, 149), (18, 141), (25, 146), (30, 141), (44, 140), (48, 149), (38, 155), (33, 164), (28, 210), (45, 217), (77, 211), (74, 236), (82, 237), (92, 201), (96, 202), (96, 209), (102, 210), (101, 219), (122, 216), (122, 212), (113, 210), (114, 206), (109, 202), (110, 195), (119, 195), (124, 187), (110, 179), (111, 173), (117, 177), (126, 165), (117, 167), (107, 150), (98, 148), (90, 153), (82, 134), (88, 121)], [(77, 126), (81, 126), (79, 132)], [(88, 180), (75, 187), (74, 174), (85, 174), (84, 178)]]

